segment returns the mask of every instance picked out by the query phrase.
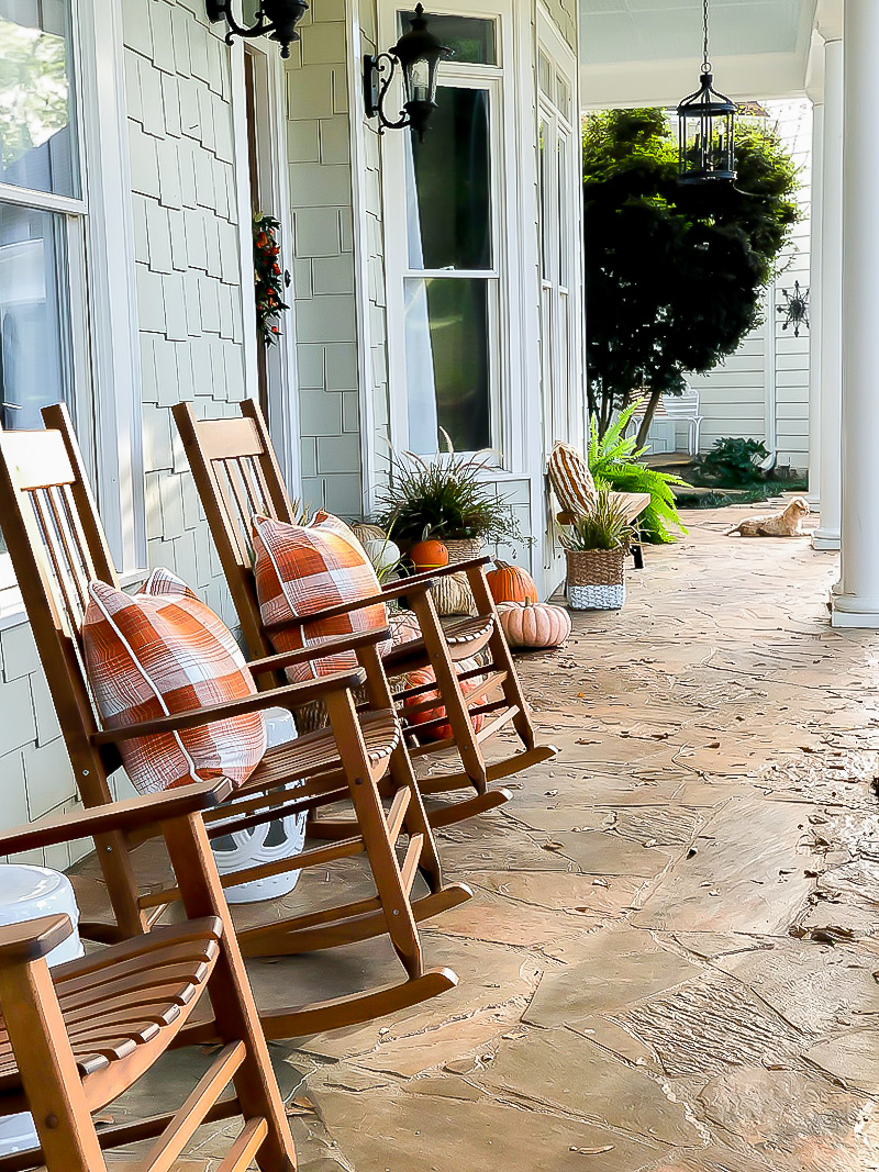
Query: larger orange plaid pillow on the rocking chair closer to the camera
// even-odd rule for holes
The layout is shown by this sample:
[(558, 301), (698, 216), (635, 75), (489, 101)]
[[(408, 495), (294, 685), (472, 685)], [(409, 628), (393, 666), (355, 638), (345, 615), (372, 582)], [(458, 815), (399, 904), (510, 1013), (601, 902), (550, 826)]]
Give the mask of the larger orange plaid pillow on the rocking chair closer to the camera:
[[(91, 690), (108, 728), (255, 694), (225, 624), (166, 570), (134, 597), (91, 582), (82, 639)], [(227, 777), (243, 784), (266, 752), (261, 713), (120, 744), (141, 793)]]

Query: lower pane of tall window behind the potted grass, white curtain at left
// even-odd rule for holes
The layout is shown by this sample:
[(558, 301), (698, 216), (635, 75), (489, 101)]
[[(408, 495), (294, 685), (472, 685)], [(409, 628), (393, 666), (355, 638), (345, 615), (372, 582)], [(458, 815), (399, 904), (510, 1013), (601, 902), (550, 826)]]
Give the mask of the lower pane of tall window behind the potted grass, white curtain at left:
[(489, 447), (489, 281), (406, 282), (406, 367), (413, 451), (438, 451), (440, 428), (456, 451)]

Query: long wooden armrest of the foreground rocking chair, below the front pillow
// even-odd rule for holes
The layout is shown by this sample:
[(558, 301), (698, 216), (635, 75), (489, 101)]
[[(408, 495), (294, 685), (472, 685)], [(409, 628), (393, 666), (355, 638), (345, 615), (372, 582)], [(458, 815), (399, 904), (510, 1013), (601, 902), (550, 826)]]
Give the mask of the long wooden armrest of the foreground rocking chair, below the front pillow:
[(232, 783), (219, 777), (90, 810), (40, 818), (27, 826), (0, 833), (0, 854), (20, 854), (22, 851), (56, 846), (59, 843), (73, 843), (77, 838), (94, 838), (96, 834), (125, 832), (159, 822), (172, 822), (175, 818), (210, 810), (225, 802), (231, 792)]

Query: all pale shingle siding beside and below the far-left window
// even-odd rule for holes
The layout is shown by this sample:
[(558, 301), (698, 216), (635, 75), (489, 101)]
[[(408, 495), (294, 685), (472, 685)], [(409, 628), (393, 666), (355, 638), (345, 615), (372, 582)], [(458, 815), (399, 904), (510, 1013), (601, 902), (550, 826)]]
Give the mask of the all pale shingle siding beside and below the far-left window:
[[(232, 621), (170, 415), (182, 397), (222, 415), (244, 396), (229, 49), (202, 0), (125, 0), (122, 13), (148, 559)], [(13, 826), (66, 812), (76, 789), (26, 624), (0, 632), (0, 825)], [(131, 793), (122, 775), (113, 789)], [(28, 859), (66, 867), (88, 850), (76, 843)]]

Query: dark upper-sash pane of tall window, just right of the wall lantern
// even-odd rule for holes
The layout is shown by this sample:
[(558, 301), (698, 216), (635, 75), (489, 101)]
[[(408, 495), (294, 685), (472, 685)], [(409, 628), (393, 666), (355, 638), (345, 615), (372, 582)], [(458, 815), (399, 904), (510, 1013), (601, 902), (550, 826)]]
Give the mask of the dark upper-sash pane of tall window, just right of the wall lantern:
[(408, 136), (407, 219), (411, 268), (491, 268), (489, 95), (440, 90), (430, 132)]

